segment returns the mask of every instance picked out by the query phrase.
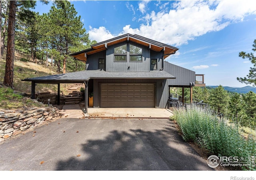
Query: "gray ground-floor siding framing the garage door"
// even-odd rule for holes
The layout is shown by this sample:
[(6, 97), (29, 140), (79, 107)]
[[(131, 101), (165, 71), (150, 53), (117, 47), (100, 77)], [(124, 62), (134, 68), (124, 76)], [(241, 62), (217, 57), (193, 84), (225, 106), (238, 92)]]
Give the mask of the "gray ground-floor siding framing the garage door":
[(153, 83), (155, 84), (155, 107), (166, 108), (168, 100), (167, 80), (94, 79), (94, 108), (100, 107), (100, 83)]

